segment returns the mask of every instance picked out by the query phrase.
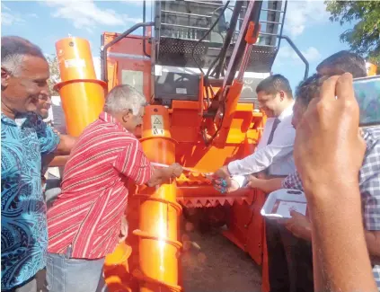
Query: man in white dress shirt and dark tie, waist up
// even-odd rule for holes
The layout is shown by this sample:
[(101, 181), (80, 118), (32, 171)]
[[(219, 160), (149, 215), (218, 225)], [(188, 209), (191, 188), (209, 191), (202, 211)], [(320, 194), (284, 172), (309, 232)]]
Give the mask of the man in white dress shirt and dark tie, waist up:
[[(261, 111), (268, 119), (256, 151), (217, 170), (216, 177), (227, 182), (226, 191), (242, 187), (245, 176), (265, 172), (270, 176), (287, 176), (295, 171), (293, 145), (296, 130), (292, 126), (293, 93), (283, 75), (271, 75), (256, 88)], [(222, 190), (221, 185), (216, 185)]]

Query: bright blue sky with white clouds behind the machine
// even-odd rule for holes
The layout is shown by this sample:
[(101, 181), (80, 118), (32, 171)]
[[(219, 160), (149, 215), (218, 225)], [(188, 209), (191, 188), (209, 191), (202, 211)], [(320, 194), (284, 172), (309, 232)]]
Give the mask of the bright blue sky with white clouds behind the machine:
[[(37, 44), (45, 54), (55, 54), (57, 40), (75, 36), (89, 40), (95, 61), (99, 58), (104, 31), (123, 32), (142, 22), (142, 1), (2, 1), (1, 34), (17, 35)], [(148, 2), (147, 21), (151, 17)], [(349, 49), (340, 34), (353, 24), (330, 22), (330, 13), (320, 0), (288, 1), (284, 34), (290, 37), (309, 61), (309, 75), (323, 58)], [(141, 33), (141, 32), (140, 32)], [(282, 41), (273, 73), (285, 75), (295, 88), (302, 80), (305, 65), (286, 41)]]

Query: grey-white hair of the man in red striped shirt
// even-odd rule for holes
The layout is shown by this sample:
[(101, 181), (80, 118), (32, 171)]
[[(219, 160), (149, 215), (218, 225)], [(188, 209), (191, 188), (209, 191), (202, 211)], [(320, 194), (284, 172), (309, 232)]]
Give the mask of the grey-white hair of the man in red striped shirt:
[(110, 93), (108, 93), (104, 104), (104, 111), (117, 113), (131, 110), (134, 115), (137, 115), (144, 106), (146, 106), (145, 96), (134, 87), (122, 84), (113, 87)]

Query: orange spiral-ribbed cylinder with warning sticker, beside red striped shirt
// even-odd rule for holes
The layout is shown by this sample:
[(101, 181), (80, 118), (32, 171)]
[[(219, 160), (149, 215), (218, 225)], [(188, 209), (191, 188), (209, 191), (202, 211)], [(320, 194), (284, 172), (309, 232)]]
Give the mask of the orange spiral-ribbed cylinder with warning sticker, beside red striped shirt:
[[(141, 144), (146, 156), (161, 164), (175, 162), (176, 142), (170, 135), (169, 112), (163, 106), (146, 107)], [(139, 229), (140, 292), (181, 291), (178, 285), (178, 218), (181, 205), (176, 202), (175, 181), (137, 193), (141, 199)]]

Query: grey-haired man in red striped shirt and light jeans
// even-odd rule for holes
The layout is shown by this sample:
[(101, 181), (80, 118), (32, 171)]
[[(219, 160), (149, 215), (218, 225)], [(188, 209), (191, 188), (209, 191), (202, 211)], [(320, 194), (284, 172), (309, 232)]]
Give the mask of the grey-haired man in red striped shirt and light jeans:
[(103, 291), (102, 266), (119, 242), (128, 181), (155, 186), (181, 175), (179, 164), (154, 170), (132, 134), (145, 104), (133, 87), (116, 86), (72, 149), (62, 193), (48, 211), (50, 292)]

